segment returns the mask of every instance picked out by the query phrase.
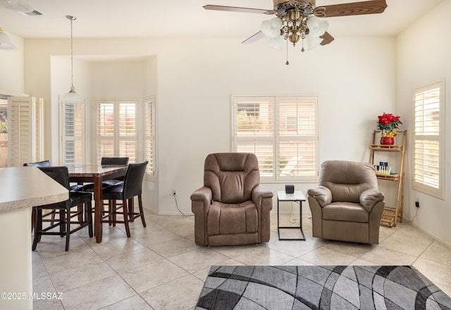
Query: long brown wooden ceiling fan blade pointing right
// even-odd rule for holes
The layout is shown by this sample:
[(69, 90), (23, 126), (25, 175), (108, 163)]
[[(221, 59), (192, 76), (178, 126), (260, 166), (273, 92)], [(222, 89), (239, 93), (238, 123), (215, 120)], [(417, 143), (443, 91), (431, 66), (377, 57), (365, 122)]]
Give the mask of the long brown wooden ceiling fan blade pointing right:
[(322, 7), (326, 8), (326, 16), (324, 17), (352, 16), (382, 13), (387, 7), (387, 3), (385, 0), (373, 0), (349, 4), (332, 4)]

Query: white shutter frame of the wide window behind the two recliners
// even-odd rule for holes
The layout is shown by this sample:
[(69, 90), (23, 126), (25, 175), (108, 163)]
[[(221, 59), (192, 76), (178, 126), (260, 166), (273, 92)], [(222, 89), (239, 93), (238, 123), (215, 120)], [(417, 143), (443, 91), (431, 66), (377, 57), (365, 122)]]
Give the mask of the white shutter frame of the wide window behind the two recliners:
[[(245, 137), (240, 137), (238, 135), (238, 113), (240, 113), (240, 109), (238, 109), (238, 102), (245, 101), (249, 106), (253, 106), (252, 113), (255, 115), (258, 114), (260, 116), (261, 111), (256, 112), (257, 109), (255, 105), (258, 102), (267, 102), (268, 104), (272, 104), (272, 115), (268, 115), (268, 118), (272, 118), (271, 126), (272, 133), (271, 135), (249, 135)], [(251, 104), (254, 101), (254, 104)], [(283, 119), (286, 116), (280, 116), (280, 104), (284, 101), (311, 101), (314, 104), (314, 133), (312, 135), (285, 135), (280, 133), (280, 125), (283, 122)], [(258, 109), (259, 110), (259, 109)], [(239, 142), (254, 141), (255, 148), (261, 147), (265, 149), (265, 146), (268, 149), (272, 147), (272, 163), (269, 169), (273, 171), (271, 176), (266, 176), (264, 173), (260, 172), (260, 179), (263, 183), (281, 183), (281, 182), (318, 182), (319, 180), (319, 94), (257, 94), (257, 95), (240, 95), (233, 94), (231, 96), (231, 116), (232, 116), (232, 150), (238, 151)], [(256, 114), (257, 113), (257, 114)], [(297, 114), (296, 116), (292, 116), (292, 118), (297, 118), (297, 120), (302, 119), (302, 115)], [(269, 126), (269, 127), (271, 127)], [(297, 129), (302, 130), (302, 124), (297, 123)], [(280, 157), (281, 156), (281, 142), (283, 141), (291, 141), (291, 142), (301, 142), (302, 140), (309, 140), (314, 143), (314, 163), (311, 165), (313, 167), (313, 172), (311, 174), (306, 175), (283, 175), (280, 169)], [(261, 159), (259, 159), (260, 171), (263, 171), (265, 168), (264, 164), (261, 163)], [(274, 173), (276, 171), (276, 173)], [(297, 172), (299, 173), (300, 170)]]

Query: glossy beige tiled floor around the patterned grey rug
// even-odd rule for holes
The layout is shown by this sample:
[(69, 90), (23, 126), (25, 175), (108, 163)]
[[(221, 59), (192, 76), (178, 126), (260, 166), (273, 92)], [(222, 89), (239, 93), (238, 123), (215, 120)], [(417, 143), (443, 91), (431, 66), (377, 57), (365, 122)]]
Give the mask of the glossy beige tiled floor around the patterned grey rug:
[(279, 241), (272, 216), (268, 243), (198, 247), (192, 217), (147, 212), (146, 218), (147, 228), (132, 223), (130, 238), (123, 225), (104, 224), (100, 244), (80, 230), (70, 238), (69, 252), (63, 238), (42, 237), (32, 252), (33, 292), (63, 294), (36, 300), (34, 309), (193, 309), (211, 265), (242, 264), (413, 265), (451, 296), (451, 248), (409, 223), (381, 226), (378, 245), (354, 244), (311, 237), (306, 216), (306, 241)]

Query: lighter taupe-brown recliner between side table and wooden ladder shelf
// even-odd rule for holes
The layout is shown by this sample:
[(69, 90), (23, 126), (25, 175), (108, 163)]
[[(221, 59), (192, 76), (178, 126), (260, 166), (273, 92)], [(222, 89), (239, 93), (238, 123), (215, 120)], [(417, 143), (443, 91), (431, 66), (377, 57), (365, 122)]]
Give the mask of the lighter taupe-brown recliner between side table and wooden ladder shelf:
[(307, 192), (314, 237), (379, 243), (385, 202), (369, 163), (325, 161), (319, 186)]

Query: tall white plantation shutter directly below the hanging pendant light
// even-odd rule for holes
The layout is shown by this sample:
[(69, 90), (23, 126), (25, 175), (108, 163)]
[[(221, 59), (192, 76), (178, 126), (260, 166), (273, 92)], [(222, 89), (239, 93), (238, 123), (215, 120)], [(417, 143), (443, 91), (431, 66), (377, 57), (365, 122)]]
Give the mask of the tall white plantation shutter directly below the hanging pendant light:
[(85, 104), (61, 104), (61, 164), (85, 163)]

